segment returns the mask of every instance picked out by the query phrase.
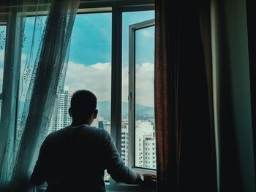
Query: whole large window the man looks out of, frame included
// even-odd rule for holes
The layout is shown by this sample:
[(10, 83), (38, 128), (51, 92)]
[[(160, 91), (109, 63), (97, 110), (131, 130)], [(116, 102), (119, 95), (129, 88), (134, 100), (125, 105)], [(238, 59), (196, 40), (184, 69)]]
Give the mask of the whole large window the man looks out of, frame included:
[[(59, 90), (48, 134), (71, 123), (68, 108), (72, 93), (78, 89), (88, 89), (98, 99), (99, 115), (93, 126), (105, 128), (112, 135), (127, 165), (155, 169), (146, 163), (146, 158), (150, 159), (151, 156), (145, 153), (145, 146), (154, 145), (154, 1), (131, 2), (80, 4), (72, 30), (64, 88)], [(29, 50), (31, 28), (34, 22), (38, 23), (34, 35), (35, 40), (39, 41), (45, 19), (45, 16), (37, 20), (33, 16), (26, 18), (26, 41), (23, 42), (20, 58), (18, 124), (22, 123), (23, 101), (29, 86), (26, 77), (34, 69), (26, 61), (34, 61), (39, 48), (36, 45), (33, 50)], [(133, 44), (129, 42), (131, 29), (135, 35)], [(0, 91), (4, 68), (2, 39), (5, 38), (5, 31), (6, 26), (0, 26)], [(135, 50), (134, 63), (131, 63), (131, 47)], [(133, 76), (130, 70), (133, 70)], [(18, 139), (22, 131), (17, 130)], [(105, 180), (110, 180), (108, 174), (105, 174)]]

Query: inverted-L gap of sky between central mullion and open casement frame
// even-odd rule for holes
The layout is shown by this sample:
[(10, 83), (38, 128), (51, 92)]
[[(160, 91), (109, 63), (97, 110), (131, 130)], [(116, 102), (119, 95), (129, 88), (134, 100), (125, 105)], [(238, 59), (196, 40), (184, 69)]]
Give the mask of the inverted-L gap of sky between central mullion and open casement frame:
[(122, 120), (121, 120), (121, 156), (128, 165), (129, 153), (129, 26), (145, 20), (154, 19), (154, 11), (124, 12), (122, 26)]

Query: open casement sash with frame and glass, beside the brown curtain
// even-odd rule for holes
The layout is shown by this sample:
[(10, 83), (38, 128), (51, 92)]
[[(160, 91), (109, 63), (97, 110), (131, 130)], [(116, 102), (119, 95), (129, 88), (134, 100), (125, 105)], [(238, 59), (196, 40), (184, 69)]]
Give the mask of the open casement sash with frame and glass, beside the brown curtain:
[(154, 124), (154, 20), (146, 20), (129, 26), (129, 146), (137, 167), (156, 169)]

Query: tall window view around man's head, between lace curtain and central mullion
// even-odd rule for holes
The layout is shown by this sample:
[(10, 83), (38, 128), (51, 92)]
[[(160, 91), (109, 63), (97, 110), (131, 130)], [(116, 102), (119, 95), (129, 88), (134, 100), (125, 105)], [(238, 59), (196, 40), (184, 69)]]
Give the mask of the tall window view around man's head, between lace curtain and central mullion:
[[(110, 133), (112, 14), (78, 14), (72, 30), (69, 63), (59, 105), (53, 109), (49, 133), (72, 123), (68, 109), (72, 93), (86, 89), (97, 96), (97, 119), (91, 126)], [(105, 174), (105, 180), (110, 179)]]

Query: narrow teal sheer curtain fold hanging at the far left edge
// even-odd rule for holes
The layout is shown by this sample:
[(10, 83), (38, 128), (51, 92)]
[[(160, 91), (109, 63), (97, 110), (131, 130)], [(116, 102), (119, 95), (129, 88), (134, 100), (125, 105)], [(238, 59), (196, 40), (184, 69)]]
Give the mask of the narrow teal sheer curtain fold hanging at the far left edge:
[[(0, 185), (10, 181), (11, 169), (15, 156), (15, 118), (17, 109), (18, 82), (23, 31), (22, 7), (11, 7), (7, 20), (7, 31), (4, 59), (4, 78), (1, 103), (0, 123)], [(15, 45), (15, 46), (13, 46)]]

